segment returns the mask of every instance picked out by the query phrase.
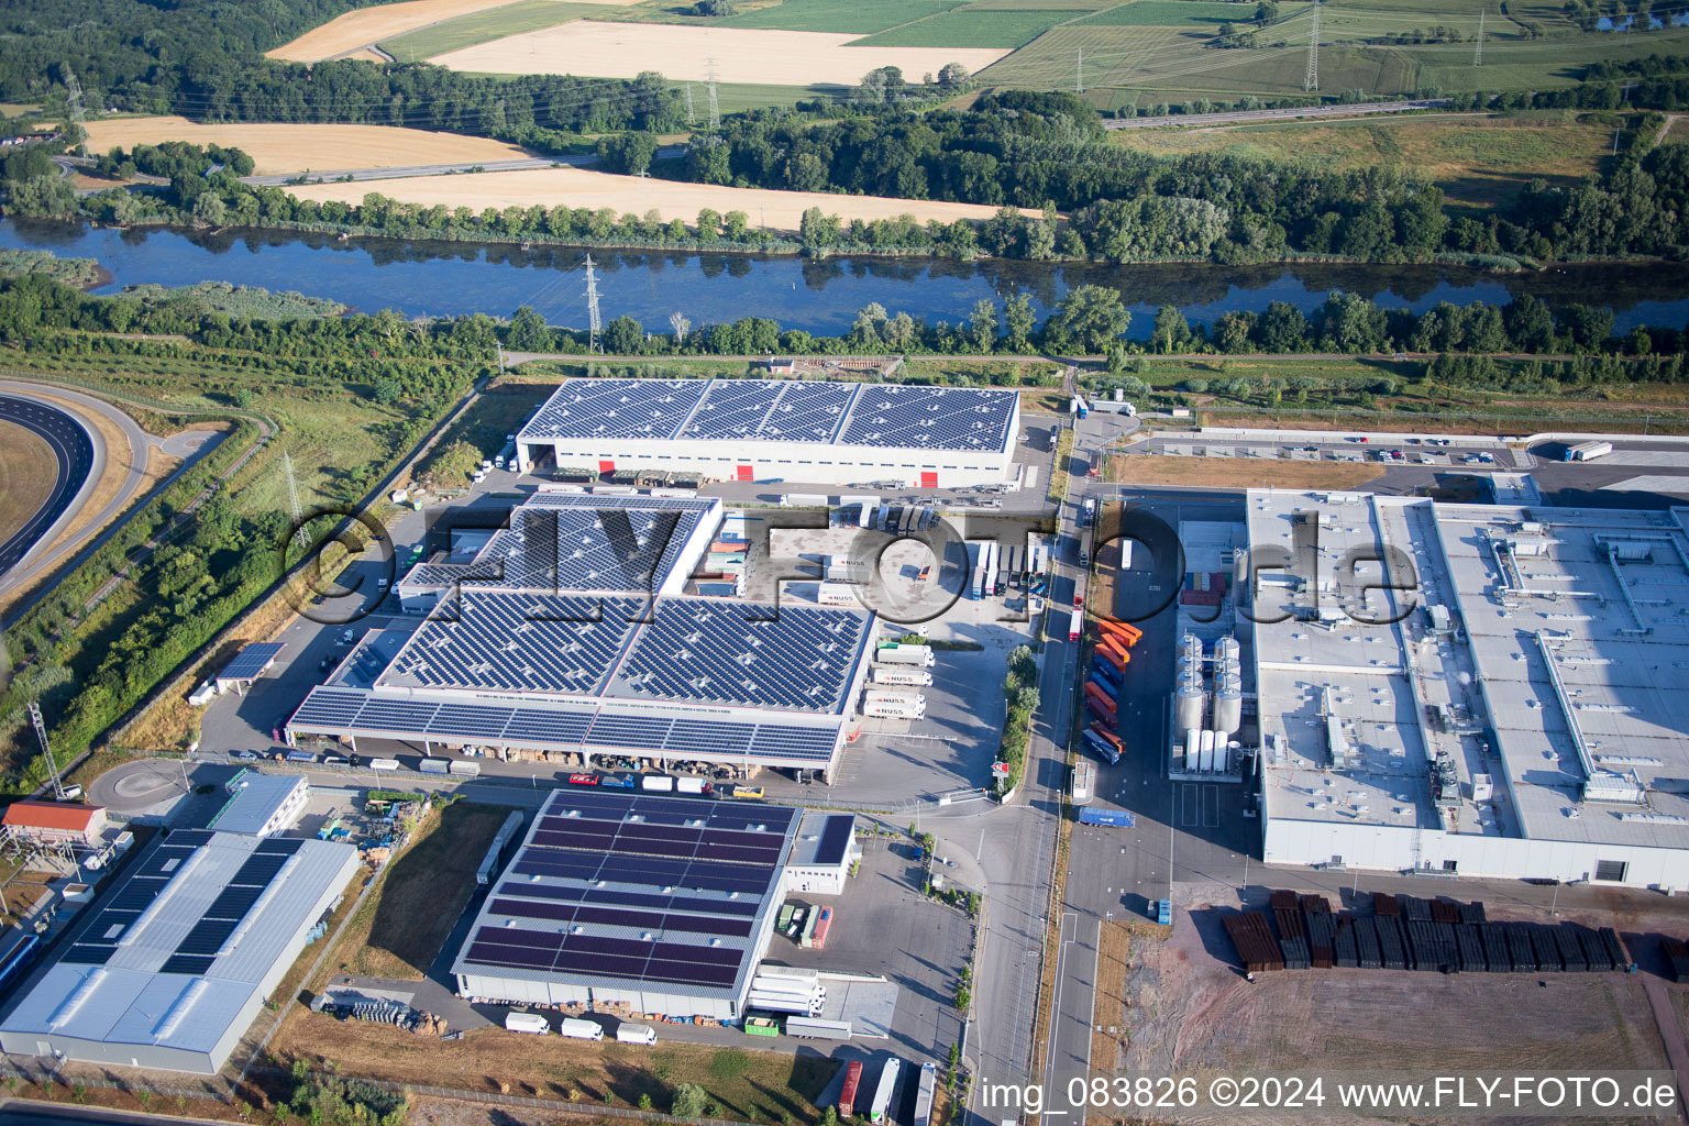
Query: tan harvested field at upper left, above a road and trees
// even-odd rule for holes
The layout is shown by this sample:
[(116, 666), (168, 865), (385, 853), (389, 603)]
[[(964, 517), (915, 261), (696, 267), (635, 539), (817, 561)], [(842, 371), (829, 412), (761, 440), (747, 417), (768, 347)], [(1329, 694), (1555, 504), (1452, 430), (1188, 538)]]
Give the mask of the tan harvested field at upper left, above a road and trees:
[[(186, 140), (240, 149), (258, 174), (402, 169), (456, 160), (519, 160), (525, 149), (485, 137), (431, 133), (392, 125), (198, 125), (182, 116), (135, 116), (88, 122), (88, 150)], [(361, 199), (363, 194), (360, 192)]]

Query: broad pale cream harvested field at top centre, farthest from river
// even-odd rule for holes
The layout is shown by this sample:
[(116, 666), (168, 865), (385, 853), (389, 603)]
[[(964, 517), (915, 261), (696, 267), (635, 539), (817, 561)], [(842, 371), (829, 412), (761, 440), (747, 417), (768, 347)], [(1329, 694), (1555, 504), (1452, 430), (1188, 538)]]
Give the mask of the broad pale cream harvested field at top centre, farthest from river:
[(635, 78), (657, 71), (669, 81), (696, 83), (709, 78), (714, 59), (723, 83), (855, 86), (878, 66), (921, 78), (961, 62), (971, 74), (1008, 54), (983, 47), (853, 47), (853, 39), (861, 35), (576, 20), (448, 51), (429, 62), (490, 74)]

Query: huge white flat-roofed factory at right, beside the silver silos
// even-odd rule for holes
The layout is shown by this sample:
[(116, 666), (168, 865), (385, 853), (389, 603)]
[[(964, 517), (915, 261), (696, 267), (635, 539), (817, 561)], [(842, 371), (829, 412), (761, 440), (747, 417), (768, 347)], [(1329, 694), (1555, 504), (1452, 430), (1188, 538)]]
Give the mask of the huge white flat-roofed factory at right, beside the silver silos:
[(1684, 510), (1246, 506), (1268, 863), (1689, 883)]

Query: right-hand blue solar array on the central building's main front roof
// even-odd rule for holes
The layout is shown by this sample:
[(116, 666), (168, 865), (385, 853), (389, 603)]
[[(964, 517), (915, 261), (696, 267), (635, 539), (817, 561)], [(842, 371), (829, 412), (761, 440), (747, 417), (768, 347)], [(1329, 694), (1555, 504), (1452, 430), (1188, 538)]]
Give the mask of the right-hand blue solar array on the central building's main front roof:
[(665, 599), (606, 692), (789, 711), (838, 711), (872, 618), (780, 606), (768, 621), (731, 603)]

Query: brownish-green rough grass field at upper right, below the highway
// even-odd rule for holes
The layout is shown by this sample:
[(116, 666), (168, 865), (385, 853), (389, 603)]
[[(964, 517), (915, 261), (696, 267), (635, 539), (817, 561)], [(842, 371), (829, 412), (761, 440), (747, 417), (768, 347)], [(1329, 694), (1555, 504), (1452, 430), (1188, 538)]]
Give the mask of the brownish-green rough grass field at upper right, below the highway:
[(1598, 171), (1613, 127), (1603, 115), (1434, 115), (1290, 125), (1118, 130), (1115, 143), (1181, 155), (1223, 152), (1326, 169), (1397, 165), (1442, 186), (1454, 204), (1490, 208), (1532, 177), (1571, 186)]

